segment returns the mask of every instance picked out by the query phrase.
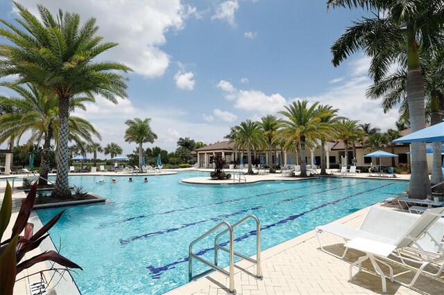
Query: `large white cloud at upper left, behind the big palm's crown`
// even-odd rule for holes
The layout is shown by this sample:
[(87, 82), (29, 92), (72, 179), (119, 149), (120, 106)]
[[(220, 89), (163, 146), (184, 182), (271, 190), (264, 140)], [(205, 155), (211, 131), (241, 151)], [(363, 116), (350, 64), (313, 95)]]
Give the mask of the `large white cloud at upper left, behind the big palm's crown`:
[[(28, 10), (38, 15), (40, 0), (20, 0)], [(135, 73), (147, 78), (162, 76), (169, 66), (171, 57), (162, 51), (165, 34), (169, 30), (181, 30), (187, 17), (197, 17), (195, 8), (184, 6), (180, 0), (171, 1), (45, 1), (44, 6), (53, 15), (61, 8), (77, 12), (82, 23), (90, 17), (96, 18), (100, 27), (97, 35), (104, 42), (117, 42), (118, 46), (103, 53), (103, 60), (118, 60), (130, 66)], [(121, 20), (124, 16), (123, 21)]]

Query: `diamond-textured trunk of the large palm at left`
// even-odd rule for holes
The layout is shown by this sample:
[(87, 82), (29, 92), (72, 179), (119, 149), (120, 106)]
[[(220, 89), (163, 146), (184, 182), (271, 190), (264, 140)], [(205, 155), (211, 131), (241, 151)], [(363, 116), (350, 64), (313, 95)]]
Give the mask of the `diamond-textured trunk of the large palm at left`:
[(68, 163), (68, 120), (69, 120), (69, 98), (58, 99), (58, 141), (56, 150), (57, 178), (53, 195), (59, 199), (71, 197), (69, 191), (69, 163)]

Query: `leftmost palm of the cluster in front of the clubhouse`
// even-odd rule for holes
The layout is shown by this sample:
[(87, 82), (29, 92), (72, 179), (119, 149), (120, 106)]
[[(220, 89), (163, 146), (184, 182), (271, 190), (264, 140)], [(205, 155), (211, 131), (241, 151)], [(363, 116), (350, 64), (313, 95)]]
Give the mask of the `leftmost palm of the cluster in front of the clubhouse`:
[(234, 141), (236, 150), (247, 150), (248, 154), (248, 175), (253, 175), (253, 166), (251, 164), (251, 152), (259, 149), (264, 144), (261, 129), (257, 122), (246, 120), (238, 126), (231, 128), (230, 140)]

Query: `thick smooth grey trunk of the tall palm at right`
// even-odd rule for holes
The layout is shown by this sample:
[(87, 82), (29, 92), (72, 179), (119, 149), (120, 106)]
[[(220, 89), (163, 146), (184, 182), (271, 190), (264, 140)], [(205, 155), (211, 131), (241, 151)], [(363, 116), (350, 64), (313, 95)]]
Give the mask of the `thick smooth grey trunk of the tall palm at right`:
[[(411, 132), (416, 132), (425, 127), (424, 79), (421, 74), (413, 24), (407, 23), (407, 30), (407, 101)], [(427, 172), (425, 143), (411, 143), (409, 197), (425, 199), (427, 195), (432, 195), (432, 188)]]

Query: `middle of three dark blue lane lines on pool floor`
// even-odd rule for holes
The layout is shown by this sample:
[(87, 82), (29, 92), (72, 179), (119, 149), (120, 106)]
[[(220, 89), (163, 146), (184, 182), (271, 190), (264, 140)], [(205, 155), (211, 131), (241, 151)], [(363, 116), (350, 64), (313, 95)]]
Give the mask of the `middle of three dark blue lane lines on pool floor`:
[[(364, 183), (366, 183), (366, 181), (361, 181), (361, 182), (359, 182), (357, 184), (364, 184)], [(348, 186), (355, 186), (355, 185), (356, 184), (350, 184)], [(348, 186), (342, 186), (342, 188), (346, 188)], [(337, 188), (330, 188), (329, 190), (336, 190), (336, 189)], [(272, 204), (271, 206), (278, 205), (278, 204), (285, 203), (285, 202), (291, 202), (291, 201), (294, 201), (295, 199), (300, 199), (301, 197), (307, 197), (307, 196), (312, 195), (312, 194), (323, 193), (323, 192), (327, 192), (329, 190), (321, 190), (321, 191), (318, 191), (318, 192), (313, 192), (311, 194), (299, 195), (297, 197), (292, 197), (292, 198), (289, 198), (289, 199), (282, 199), (279, 202), (275, 202), (275, 204)], [(223, 220), (225, 218), (236, 216), (236, 215), (239, 215), (241, 213), (246, 213), (248, 211), (256, 211), (256, 210), (258, 210), (260, 208), (263, 208), (263, 206), (255, 206), (253, 208), (244, 209), (244, 210), (237, 211), (237, 212), (234, 212), (234, 213), (228, 213), (228, 214), (212, 217), (212, 218), (210, 218), (208, 220), (200, 220), (198, 222), (192, 222), (192, 223), (189, 223), (189, 224), (182, 224), (180, 227), (176, 227), (176, 228), (172, 228), (172, 229), (165, 229), (163, 231), (154, 231), (152, 233), (144, 233), (143, 235), (135, 235), (135, 236), (133, 236), (131, 238), (128, 238), (128, 239), (120, 239), (119, 242), (121, 244), (128, 244), (129, 242), (133, 242), (135, 240), (140, 240), (140, 239), (143, 239), (143, 238), (151, 238), (151, 237), (155, 237), (156, 235), (163, 235), (164, 233), (171, 233), (173, 231), (178, 231), (180, 229), (185, 229), (185, 228), (187, 228), (189, 226), (194, 226), (196, 224), (201, 224), (201, 223), (204, 223), (204, 222), (218, 222), (218, 221), (221, 221), (221, 220)]]

